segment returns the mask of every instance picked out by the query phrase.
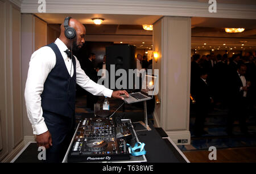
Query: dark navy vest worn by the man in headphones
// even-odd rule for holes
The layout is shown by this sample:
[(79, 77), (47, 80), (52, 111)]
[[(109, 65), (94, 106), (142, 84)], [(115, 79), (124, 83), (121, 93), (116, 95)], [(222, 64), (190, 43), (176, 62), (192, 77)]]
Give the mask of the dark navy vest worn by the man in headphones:
[(43, 112), (51, 112), (65, 117), (75, 114), (76, 100), (76, 60), (72, 57), (73, 77), (69, 75), (67, 66), (55, 43), (49, 46), (56, 55), (56, 65), (48, 74), (44, 82), (44, 90), (41, 95)]

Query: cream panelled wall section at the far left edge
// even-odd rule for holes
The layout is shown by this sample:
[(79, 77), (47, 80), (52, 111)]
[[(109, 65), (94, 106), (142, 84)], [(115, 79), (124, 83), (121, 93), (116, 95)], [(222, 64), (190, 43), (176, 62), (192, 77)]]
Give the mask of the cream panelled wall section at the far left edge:
[(0, 112), (3, 159), (23, 140), (20, 59), (20, 8), (0, 1)]

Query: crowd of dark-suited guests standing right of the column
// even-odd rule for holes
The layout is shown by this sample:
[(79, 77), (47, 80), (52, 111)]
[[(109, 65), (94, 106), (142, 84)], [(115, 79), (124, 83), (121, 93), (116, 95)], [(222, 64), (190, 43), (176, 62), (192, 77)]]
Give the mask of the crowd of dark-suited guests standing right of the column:
[(195, 99), (195, 135), (207, 134), (205, 117), (211, 105), (228, 109), (226, 132), (233, 134), (233, 121), (238, 118), (240, 129), (247, 134), (246, 117), (255, 112), (256, 57), (253, 53), (214, 53), (191, 58), (191, 95)]

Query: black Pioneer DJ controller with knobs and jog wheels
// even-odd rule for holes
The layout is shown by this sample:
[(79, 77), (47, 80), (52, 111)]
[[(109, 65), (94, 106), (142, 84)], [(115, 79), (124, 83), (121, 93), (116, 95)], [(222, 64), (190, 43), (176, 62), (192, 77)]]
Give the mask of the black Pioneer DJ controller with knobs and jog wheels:
[(68, 162), (129, 160), (126, 143), (134, 139), (131, 123), (118, 118), (85, 118), (77, 126)]

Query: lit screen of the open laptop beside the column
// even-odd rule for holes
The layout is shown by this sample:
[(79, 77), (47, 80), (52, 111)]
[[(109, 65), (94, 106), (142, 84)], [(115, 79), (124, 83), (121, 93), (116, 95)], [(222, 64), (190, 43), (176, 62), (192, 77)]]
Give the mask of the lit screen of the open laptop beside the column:
[(156, 95), (156, 87), (158, 86), (157, 82), (157, 75), (154, 74), (145, 74), (144, 77), (142, 77), (142, 89), (141, 92), (144, 94), (147, 94), (148, 96), (153, 97)]

